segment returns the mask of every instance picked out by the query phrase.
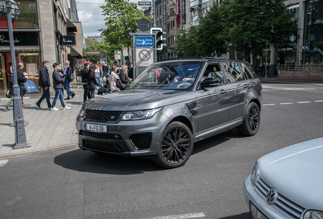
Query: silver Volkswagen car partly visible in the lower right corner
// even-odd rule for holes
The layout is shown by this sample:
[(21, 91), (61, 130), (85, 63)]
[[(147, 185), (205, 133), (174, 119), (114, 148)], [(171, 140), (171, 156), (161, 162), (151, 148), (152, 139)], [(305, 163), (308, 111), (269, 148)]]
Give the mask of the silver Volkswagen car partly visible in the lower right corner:
[(323, 138), (257, 160), (244, 181), (254, 218), (323, 219)]

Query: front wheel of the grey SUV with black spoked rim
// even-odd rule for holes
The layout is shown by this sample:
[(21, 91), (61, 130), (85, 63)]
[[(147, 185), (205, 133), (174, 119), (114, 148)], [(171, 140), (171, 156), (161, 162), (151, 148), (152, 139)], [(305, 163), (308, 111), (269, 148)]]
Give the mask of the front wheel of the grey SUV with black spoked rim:
[(172, 122), (163, 132), (158, 144), (158, 153), (152, 161), (165, 168), (176, 168), (185, 164), (193, 151), (193, 135), (181, 122)]

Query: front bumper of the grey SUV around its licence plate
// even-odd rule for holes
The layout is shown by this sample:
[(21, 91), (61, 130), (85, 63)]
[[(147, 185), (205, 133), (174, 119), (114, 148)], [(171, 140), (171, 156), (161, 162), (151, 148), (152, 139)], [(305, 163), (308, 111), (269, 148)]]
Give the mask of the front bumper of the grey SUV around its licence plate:
[[(147, 157), (158, 153), (160, 132), (164, 130), (169, 118), (158, 112), (154, 117), (147, 120), (120, 121), (118, 123), (99, 123), (84, 121), (82, 117), (77, 117), (76, 128), (78, 131), (78, 144), (83, 150), (98, 151), (122, 156)], [(108, 126), (106, 135), (91, 132), (85, 129), (85, 123)], [(140, 149), (136, 142), (142, 139), (149, 141), (147, 149)], [(147, 139), (149, 138), (149, 139)]]

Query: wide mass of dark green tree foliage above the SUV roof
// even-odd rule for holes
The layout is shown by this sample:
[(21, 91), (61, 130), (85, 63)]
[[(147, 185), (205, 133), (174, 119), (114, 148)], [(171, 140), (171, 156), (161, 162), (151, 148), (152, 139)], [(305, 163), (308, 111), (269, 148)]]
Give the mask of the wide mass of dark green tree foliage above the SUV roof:
[(234, 49), (254, 57), (262, 54), (266, 41), (278, 45), (283, 35), (297, 33), (297, 19), (281, 0), (223, 0), (200, 21), (181, 30), (175, 44), (177, 56), (219, 56)]

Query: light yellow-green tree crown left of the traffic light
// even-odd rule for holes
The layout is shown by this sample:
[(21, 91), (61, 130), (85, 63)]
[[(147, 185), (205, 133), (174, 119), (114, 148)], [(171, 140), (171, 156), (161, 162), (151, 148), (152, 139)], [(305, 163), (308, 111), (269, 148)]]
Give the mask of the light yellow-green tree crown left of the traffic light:
[(109, 45), (132, 47), (132, 36), (138, 29), (138, 21), (145, 17), (144, 12), (130, 0), (105, 0), (101, 6), (106, 16), (106, 29), (102, 32)]

